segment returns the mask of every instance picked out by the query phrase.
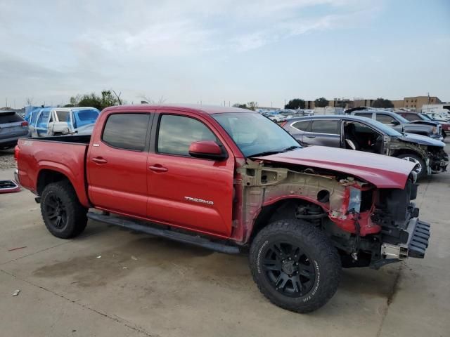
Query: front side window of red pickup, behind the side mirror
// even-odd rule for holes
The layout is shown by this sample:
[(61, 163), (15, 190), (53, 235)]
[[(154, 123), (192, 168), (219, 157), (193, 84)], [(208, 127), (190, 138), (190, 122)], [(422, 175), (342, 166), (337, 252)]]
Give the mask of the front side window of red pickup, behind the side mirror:
[(219, 144), (210, 128), (197, 119), (175, 114), (161, 116), (158, 152), (191, 157), (189, 147), (200, 140), (212, 140)]

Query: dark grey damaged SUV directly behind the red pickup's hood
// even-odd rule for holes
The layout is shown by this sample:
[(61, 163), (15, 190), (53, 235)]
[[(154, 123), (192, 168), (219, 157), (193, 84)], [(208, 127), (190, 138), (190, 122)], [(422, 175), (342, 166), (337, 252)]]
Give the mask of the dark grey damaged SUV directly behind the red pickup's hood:
[(416, 164), (418, 178), (446, 171), (445, 143), (413, 133), (399, 133), (379, 121), (349, 115), (293, 118), (283, 125), (303, 146), (324, 145), (385, 154)]

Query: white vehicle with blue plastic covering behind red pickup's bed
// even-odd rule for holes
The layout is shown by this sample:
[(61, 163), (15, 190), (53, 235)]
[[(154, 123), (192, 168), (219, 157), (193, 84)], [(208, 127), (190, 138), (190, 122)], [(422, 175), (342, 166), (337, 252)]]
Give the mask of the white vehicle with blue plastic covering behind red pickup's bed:
[(32, 137), (90, 135), (99, 114), (95, 107), (43, 107), (27, 118)]

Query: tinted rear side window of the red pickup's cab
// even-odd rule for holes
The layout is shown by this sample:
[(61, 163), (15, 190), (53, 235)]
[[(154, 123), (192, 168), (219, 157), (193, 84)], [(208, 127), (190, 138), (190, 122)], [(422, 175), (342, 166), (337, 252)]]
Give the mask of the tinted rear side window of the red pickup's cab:
[(150, 114), (111, 114), (103, 130), (103, 142), (124, 150), (143, 151)]

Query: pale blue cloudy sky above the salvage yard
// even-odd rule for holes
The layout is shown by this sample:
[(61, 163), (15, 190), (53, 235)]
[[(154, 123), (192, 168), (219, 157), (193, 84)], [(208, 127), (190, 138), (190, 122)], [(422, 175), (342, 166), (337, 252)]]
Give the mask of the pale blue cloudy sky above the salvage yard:
[(450, 1), (0, 0), (0, 107), (450, 100)]

